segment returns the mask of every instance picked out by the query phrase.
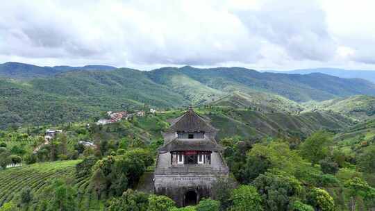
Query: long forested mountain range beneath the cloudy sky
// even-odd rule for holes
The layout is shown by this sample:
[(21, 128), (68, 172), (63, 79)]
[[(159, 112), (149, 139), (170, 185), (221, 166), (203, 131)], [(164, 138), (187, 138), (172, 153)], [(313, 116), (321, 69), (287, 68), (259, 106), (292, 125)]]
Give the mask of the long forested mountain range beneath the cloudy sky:
[(161, 109), (214, 105), (299, 115), (312, 110), (311, 101), (358, 94), (375, 96), (375, 85), (363, 79), (261, 73), (241, 67), (139, 71), (107, 66), (38, 67), (13, 62), (0, 67), (1, 127), (80, 121), (103, 111), (140, 109), (144, 105)]

